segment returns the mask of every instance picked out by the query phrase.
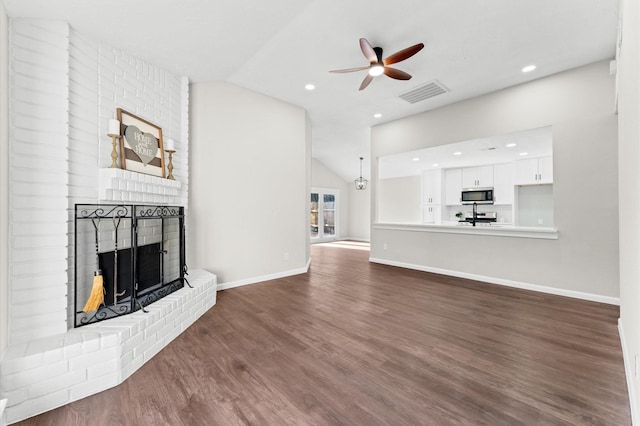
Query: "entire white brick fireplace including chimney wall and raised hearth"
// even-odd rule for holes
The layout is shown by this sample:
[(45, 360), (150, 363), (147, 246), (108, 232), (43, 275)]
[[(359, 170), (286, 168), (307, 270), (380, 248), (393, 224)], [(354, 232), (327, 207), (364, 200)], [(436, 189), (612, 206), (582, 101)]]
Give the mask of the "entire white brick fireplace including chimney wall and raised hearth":
[[(216, 279), (189, 271), (193, 288), (149, 313), (72, 328), (74, 205), (188, 205), (189, 82), (63, 22), (12, 20), (9, 32), (9, 347), (0, 399), (13, 423), (121, 383), (215, 304)], [(118, 107), (176, 141), (175, 181), (108, 168)]]

